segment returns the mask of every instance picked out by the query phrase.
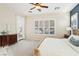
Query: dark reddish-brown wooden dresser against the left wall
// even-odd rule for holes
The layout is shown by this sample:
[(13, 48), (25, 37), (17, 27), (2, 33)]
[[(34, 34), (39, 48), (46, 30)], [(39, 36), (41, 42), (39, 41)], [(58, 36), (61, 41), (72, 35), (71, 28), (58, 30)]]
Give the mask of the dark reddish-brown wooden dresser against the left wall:
[(0, 46), (12, 45), (17, 42), (17, 34), (0, 35)]

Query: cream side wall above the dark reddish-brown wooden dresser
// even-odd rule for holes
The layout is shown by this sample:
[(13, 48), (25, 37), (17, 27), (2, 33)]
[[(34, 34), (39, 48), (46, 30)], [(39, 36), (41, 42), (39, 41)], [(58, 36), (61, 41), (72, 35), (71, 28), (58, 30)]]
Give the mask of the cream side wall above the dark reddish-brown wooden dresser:
[(7, 30), (9, 34), (16, 34), (16, 14), (0, 4), (0, 32)]

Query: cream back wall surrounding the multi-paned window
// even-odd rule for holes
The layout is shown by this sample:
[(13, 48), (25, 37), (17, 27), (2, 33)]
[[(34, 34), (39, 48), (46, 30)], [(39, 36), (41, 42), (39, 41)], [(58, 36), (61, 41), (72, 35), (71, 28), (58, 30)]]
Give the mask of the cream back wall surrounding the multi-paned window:
[[(26, 37), (27, 39), (40, 40), (50, 35), (35, 35), (33, 33), (33, 21), (35, 19), (47, 19), (54, 18), (56, 20), (56, 34), (52, 37), (62, 37), (66, 33), (66, 27), (69, 26), (69, 13), (49, 13), (49, 14), (40, 14), (33, 16), (26, 16)], [(48, 20), (49, 20), (48, 19)]]

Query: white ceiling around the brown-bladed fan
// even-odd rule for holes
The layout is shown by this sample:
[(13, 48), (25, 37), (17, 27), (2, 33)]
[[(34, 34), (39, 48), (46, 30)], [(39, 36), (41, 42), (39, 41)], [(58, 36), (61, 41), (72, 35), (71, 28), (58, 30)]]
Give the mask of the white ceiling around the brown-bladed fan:
[(33, 6), (29, 3), (3, 3), (3, 5), (5, 5), (6, 7), (22, 15), (33, 15), (33, 14), (42, 14), (51, 12), (69, 12), (74, 6), (77, 5), (76, 3), (44, 3), (44, 4), (48, 6), (47, 9), (42, 8), (41, 12), (34, 9), (32, 13), (30, 13), (28, 11)]

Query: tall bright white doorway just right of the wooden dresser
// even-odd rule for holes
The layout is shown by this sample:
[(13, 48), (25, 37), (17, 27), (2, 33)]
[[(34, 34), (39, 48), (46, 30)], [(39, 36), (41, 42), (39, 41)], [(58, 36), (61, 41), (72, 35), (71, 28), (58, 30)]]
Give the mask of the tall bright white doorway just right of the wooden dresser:
[(17, 40), (25, 39), (24, 17), (17, 16)]

